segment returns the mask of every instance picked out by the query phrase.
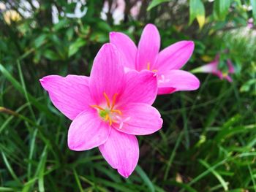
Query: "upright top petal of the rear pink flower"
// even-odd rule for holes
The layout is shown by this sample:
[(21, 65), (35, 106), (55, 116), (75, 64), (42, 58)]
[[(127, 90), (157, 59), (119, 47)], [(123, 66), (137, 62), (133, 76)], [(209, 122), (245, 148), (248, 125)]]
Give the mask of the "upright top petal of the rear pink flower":
[(148, 69), (148, 65), (152, 67), (157, 59), (159, 48), (160, 35), (157, 27), (153, 24), (146, 25), (143, 29), (138, 45), (136, 69), (141, 71), (142, 69)]

